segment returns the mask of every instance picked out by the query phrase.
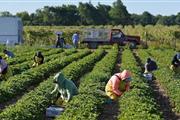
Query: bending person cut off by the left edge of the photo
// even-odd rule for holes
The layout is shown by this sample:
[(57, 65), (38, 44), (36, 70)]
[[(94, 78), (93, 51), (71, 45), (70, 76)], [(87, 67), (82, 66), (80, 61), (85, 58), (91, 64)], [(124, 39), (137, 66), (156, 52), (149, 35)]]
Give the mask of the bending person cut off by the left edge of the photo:
[(7, 80), (11, 72), (6, 61), (0, 56), (0, 80)]

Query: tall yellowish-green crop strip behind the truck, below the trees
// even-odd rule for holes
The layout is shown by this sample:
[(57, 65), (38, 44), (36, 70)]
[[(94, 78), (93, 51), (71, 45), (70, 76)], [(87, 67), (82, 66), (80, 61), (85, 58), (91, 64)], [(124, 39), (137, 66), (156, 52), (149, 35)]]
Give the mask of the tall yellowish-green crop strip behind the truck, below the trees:
[(121, 29), (126, 35), (140, 36), (141, 40), (155, 47), (177, 48), (180, 49), (180, 28), (178, 25), (89, 25), (89, 26), (25, 26), (25, 44), (39, 45), (54, 44), (56, 40), (55, 32), (62, 31), (67, 43), (72, 44), (71, 38), (74, 32), (80, 33), (82, 40), (83, 31), (88, 28), (96, 29)]

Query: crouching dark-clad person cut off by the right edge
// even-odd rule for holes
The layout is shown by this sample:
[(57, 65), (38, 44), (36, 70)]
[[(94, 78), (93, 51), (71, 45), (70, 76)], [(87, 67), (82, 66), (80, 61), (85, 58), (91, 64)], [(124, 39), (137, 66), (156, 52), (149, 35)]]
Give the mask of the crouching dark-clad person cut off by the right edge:
[(180, 71), (180, 53), (177, 53), (171, 62), (171, 70), (178, 72)]

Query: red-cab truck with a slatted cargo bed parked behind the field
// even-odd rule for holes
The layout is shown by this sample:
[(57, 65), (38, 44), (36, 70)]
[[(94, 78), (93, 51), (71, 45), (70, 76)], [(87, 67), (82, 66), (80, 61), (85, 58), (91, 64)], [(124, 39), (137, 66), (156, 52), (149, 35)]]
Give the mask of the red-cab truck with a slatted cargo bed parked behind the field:
[(125, 35), (120, 29), (85, 29), (82, 37), (81, 43), (87, 43), (89, 48), (114, 43), (119, 45), (130, 43), (134, 47), (140, 44), (139, 36)]

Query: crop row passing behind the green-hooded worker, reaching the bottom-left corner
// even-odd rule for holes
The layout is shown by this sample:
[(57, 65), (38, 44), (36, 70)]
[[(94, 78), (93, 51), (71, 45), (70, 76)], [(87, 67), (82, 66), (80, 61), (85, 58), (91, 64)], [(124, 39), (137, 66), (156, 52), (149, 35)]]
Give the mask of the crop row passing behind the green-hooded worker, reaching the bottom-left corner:
[[(91, 70), (104, 55), (104, 51), (98, 50), (93, 54), (66, 66), (62, 72), (67, 78), (78, 80), (79, 77)], [(61, 70), (61, 67), (58, 68)], [(71, 73), (69, 75), (68, 73)], [(77, 77), (78, 75), (78, 77)], [(50, 94), (54, 87), (53, 77), (42, 82), (35, 90), (24, 95), (15, 105), (9, 106), (1, 114), (3, 120), (43, 120), (46, 108), (51, 104), (53, 96)]]

